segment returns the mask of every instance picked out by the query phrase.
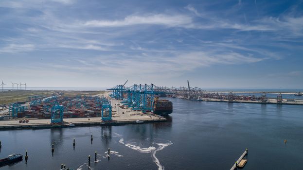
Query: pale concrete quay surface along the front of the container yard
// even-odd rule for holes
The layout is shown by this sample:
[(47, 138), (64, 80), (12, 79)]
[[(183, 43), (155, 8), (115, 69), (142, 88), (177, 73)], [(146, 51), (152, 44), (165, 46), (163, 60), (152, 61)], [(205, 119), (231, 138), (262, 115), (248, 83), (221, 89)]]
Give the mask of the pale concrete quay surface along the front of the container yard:
[[(157, 122), (157, 121), (166, 121), (165, 118), (152, 114), (145, 113), (143, 114), (140, 111), (134, 111), (131, 108), (121, 108), (121, 101), (110, 100), (112, 104), (112, 122), (105, 122), (101, 120), (101, 117), (94, 118), (70, 118), (63, 119), (67, 123), (72, 123), (75, 126), (90, 126), (90, 125), (124, 125), (124, 124), (135, 124), (136, 120), (143, 120), (143, 122)], [(20, 118), (21, 119), (21, 118)], [(15, 128), (31, 128), (32, 126), (37, 125), (49, 125), (51, 119), (29, 119), (28, 123), (19, 123), (20, 119), (12, 120), (3, 120), (0, 121), (0, 129), (15, 129)]]

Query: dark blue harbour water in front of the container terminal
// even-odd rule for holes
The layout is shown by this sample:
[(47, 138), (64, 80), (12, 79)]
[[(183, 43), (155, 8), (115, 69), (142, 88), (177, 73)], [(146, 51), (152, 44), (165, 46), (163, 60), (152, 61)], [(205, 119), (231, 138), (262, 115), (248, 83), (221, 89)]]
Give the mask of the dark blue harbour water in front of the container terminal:
[[(87, 170), (91, 155), (94, 170), (226, 170), (245, 148), (245, 170), (303, 169), (303, 106), (169, 100), (174, 112), (167, 122), (0, 131), (0, 157), (29, 153), (27, 164), (1, 169), (59, 170), (64, 163)], [(117, 152), (109, 160), (108, 148)]]

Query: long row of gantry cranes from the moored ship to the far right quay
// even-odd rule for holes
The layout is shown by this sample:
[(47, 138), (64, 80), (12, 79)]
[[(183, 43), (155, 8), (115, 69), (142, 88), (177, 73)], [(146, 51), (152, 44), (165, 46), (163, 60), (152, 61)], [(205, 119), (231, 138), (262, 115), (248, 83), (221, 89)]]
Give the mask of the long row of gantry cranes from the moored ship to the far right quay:
[[(125, 82), (125, 84), (127, 81)], [(261, 102), (267, 102), (267, 95), (263, 93), (260, 97), (258, 96), (244, 96), (244, 95), (235, 95), (232, 92), (226, 93), (212, 93), (206, 92), (199, 87), (191, 87), (189, 81), (187, 81), (187, 87), (166, 87), (166, 86), (157, 86), (157, 85), (132, 85), (126, 87), (124, 85), (116, 85), (107, 90), (112, 90), (110, 97), (117, 100), (123, 100), (125, 105), (132, 107), (133, 110), (142, 110), (143, 113), (146, 111), (152, 112), (153, 103), (155, 95), (165, 95), (168, 97), (179, 97), (190, 100), (202, 100), (202, 98), (214, 98), (220, 100), (228, 100), (230, 102), (236, 100), (260, 100)], [(282, 94), (277, 95), (277, 103), (282, 103), (283, 98)]]

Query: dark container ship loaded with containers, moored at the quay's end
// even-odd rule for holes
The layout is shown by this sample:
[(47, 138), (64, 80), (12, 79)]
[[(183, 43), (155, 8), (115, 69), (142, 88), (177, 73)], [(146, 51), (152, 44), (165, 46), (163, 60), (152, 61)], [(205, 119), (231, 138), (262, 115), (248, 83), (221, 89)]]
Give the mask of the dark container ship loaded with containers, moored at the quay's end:
[(173, 102), (168, 100), (159, 100), (159, 97), (155, 98), (154, 113), (157, 115), (169, 115), (173, 112)]

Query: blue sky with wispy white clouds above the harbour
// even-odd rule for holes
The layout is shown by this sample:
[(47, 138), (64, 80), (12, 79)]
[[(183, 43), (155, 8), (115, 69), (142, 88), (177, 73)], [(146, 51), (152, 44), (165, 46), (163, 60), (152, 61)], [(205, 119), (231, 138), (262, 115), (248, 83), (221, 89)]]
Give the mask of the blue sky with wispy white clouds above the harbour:
[(0, 79), (302, 88), (303, 0), (1, 0)]

